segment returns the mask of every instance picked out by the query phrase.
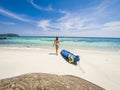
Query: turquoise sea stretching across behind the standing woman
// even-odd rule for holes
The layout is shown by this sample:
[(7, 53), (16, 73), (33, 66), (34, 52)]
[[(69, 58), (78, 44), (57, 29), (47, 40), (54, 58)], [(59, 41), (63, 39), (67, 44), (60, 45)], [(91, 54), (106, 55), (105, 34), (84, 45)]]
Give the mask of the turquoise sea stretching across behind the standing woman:
[[(120, 51), (120, 38), (59, 37), (62, 49)], [(53, 48), (54, 36), (19, 36), (0, 40), (0, 47)]]

